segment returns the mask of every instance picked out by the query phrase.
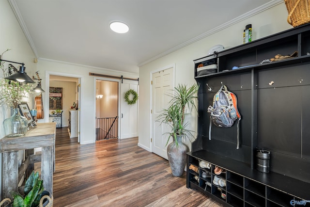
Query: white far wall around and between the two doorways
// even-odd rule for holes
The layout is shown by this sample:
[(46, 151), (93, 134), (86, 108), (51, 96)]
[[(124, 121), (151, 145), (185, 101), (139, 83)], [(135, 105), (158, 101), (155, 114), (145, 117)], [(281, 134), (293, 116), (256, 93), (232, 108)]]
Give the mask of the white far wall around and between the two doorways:
[[(95, 68), (85, 65), (68, 64), (62, 62), (38, 60), (37, 70), (40, 70), (42, 77), (45, 80), (42, 81), (42, 88), (48, 91), (49, 87), (49, 75), (76, 77), (81, 80), (80, 87), (80, 143), (94, 143), (95, 142), (95, 79), (90, 76), (89, 73), (98, 73), (111, 76), (120, 77), (123, 75), (126, 78), (139, 78), (138, 74), (125, 73), (120, 71), (112, 71), (109, 69)], [(48, 110), (48, 97), (43, 94), (44, 109)], [(48, 111), (45, 111), (48, 113)], [(48, 116), (44, 120), (48, 122)]]

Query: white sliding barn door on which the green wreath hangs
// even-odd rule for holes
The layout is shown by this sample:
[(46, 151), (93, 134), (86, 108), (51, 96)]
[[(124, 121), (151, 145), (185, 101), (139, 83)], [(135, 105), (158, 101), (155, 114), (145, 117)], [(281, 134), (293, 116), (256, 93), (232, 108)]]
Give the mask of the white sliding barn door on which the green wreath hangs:
[(139, 99), (135, 104), (128, 105), (124, 100), (124, 94), (129, 89), (133, 89), (138, 93), (139, 96), (139, 85), (138, 81), (134, 80), (123, 80), (121, 83), (121, 114), (120, 120), (120, 139), (138, 137), (138, 104)]

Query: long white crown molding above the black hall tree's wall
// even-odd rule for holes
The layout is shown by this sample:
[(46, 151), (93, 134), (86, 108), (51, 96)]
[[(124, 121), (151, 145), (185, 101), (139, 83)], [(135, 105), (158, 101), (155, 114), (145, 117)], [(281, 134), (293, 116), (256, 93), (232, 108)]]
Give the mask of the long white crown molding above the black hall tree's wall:
[(280, 4), (280, 3), (284, 3), (284, 1), (283, 0), (271, 0), (271, 1), (263, 4), (260, 7), (257, 7), (257, 8), (255, 8), (255, 9), (253, 9), (253, 10), (251, 10), (251, 11), (249, 11), (249, 12), (247, 12), (247, 13), (241, 15), (241, 16), (238, 16), (238, 17), (236, 17), (236, 18), (234, 18), (234, 19), (232, 19), (232, 20), (222, 24), (222, 25), (219, 25), (218, 27), (216, 27), (216, 28), (214, 28), (214, 29), (212, 29), (212, 30), (210, 30), (208, 32), (204, 32), (201, 35), (199, 35), (197, 37), (194, 37), (194, 38), (186, 41), (185, 43), (182, 43), (181, 45), (178, 45), (178, 46), (176, 46), (174, 48), (171, 48), (171, 49), (169, 49), (169, 50), (167, 50), (167, 51), (165, 51), (165, 52), (163, 52), (163, 53), (161, 53), (161, 54), (159, 54), (159, 55), (157, 55), (157, 56), (155, 56), (155, 57), (153, 57), (153, 58), (151, 58), (151, 59), (149, 59), (149, 60), (147, 60), (145, 62), (142, 62), (142, 63), (138, 64), (138, 66), (141, 67), (141, 66), (143, 66), (145, 64), (151, 63), (151, 62), (153, 62), (153, 61), (155, 61), (155, 60), (157, 60), (157, 59), (159, 59), (161, 57), (164, 57), (164, 56), (166, 56), (166, 55), (168, 55), (168, 54), (170, 54), (170, 53), (172, 53), (172, 52), (174, 52), (174, 51), (176, 51), (178, 49), (184, 48), (187, 45), (190, 45), (190, 44), (192, 44), (192, 43), (194, 43), (194, 42), (196, 42), (198, 40), (201, 40), (201, 39), (203, 39), (203, 38), (205, 38), (207, 36), (210, 36), (211, 34), (214, 34), (214, 33), (218, 32), (220, 30), (223, 30), (223, 29), (225, 29), (225, 28), (227, 28), (227, 27), (229, 27), (229, 26), (231, 26), (233, 24), (236, 24), (236, 23), (238, 23), (238, 22), (240, 22), (240, 21), (242, 21), (242, 20), (244, 20), (244, 19), (246, 19), (246, 18), (248, 18), (250, 16), (254, 16), (256, 14), (259, 14), (259, 13), (261, 13), (261, 12), (271, 8), (271, 7), (274, 7), (274, 6), (276, 6), (276, 5)]

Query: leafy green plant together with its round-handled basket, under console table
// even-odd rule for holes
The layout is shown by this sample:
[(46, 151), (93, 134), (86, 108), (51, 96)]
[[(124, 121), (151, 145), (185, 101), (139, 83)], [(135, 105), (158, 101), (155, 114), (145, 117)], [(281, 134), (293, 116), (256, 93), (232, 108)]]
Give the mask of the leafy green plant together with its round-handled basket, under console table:
[(13, 202), (10, 199), (3, 199), (0, 203), (5, 202), (9, 204), (5, 207), (52, 207), (53, 196), (44, 191), (43, 180), (39, 179), (39, 173), (32, 171), (29, 178), (26, 180), (24, 187), (24, 195), (16, 191), (10, 191)]

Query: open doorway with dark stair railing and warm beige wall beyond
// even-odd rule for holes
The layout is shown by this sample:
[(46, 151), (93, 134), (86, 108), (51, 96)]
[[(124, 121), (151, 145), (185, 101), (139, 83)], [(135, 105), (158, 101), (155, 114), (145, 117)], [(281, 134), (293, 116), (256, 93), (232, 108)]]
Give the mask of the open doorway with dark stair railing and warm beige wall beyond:
[(118, 138), (118, 84), (96, 80), (96, 141)]

